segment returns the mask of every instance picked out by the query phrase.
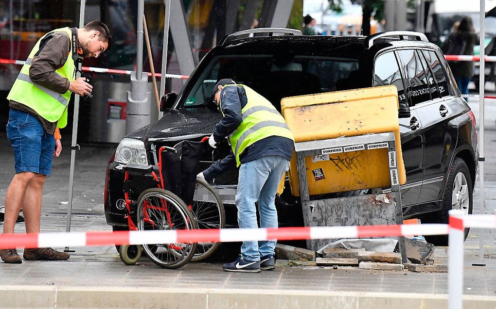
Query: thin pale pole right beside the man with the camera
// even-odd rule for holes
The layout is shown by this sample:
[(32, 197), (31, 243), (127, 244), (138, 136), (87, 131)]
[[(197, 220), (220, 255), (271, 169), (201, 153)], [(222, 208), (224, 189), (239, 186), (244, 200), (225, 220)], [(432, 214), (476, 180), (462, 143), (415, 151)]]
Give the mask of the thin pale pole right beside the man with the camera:
[[(86, 5), (86, 0), (81, 0), (81, 5), (79, 8), (79, 28), (84, 26), (84, 8)], [(78, 65), (78, 69), (81, 70), (81, 63)], [(81, 74), (76, 73), (76, 79), (79, 78)], [(76, 149), (79, 149), (77, 144), (77, 122), (79, 119), (79, 95), (74, 94), (74, 116), (72, 118), (72, 141), (70, 146), (70, 168), (69, 168), (69, 196), (67, 198), (67, 222), (65, 224), (65, 231), (70, 232), (70, 217), (72, 214), (72, 192), (74, 191), (74, 167), (76, 161)], [(70, 251), (69, 247), (66, 247), (64, 251)]]

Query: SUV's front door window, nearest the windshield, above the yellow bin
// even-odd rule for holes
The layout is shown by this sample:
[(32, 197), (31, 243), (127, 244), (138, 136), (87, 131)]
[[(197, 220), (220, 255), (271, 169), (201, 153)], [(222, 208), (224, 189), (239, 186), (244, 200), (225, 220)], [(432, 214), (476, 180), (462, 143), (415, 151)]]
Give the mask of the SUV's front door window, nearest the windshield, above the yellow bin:
[(401, 71), (393, 51), (379, 55), (374, 64), (373, 87), (387, 85), (396, 86), (398, 88), (398, 100), (400, 103), (408, 104)]

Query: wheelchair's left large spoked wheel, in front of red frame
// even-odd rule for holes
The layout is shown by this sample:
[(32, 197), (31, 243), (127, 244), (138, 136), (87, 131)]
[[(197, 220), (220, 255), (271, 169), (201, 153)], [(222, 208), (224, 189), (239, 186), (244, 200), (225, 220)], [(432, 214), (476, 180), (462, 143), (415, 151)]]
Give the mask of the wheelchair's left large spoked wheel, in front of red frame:
[[(174, 193), (151, 188), (138, 198), (138, 230), (195, 229), (196, 224), (186, 204)], [(164, 243), (143, 245), (153, 263), (164, 268), (186, 265), (196, 250), (196, 243)]]

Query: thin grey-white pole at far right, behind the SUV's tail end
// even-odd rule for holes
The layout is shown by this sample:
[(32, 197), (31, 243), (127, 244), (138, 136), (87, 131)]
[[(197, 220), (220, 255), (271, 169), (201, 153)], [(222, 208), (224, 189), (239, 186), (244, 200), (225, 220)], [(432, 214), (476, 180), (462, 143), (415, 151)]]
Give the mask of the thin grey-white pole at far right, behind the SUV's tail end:
[[(486, 17), (486, 1), (481, 0), (481, 12), (480, 12), (480, 62), (479, 62), (479, 179), (480, 179), (480, 195), (479, 195), (479, 207), (480, 211), (484, 212), (484, 85), (485, 85), (485, 29), (484, 29), (484, 18)], [(480, 229), (479, 232), (479, 266), (484, 266), (484, 229)]]

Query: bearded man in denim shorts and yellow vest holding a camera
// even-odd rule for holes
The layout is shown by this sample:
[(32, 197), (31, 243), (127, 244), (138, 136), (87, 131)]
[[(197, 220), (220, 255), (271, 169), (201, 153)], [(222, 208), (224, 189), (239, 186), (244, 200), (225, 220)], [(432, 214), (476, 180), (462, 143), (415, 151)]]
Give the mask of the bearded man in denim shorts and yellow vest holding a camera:
[[(14, 150), (15, 176), (5, 196), (3, 233), (14, 232), (22, 208), (27, 233), (39, 233), (41, 197), (52, 155), (62, 149), (54, 139), (57, 128), (67, 124), (71, 93), (88, 95), (92, 86), (75, 79), (77, 61), (98, 57), (110, 48), (112, 36), (100, 21), (83, 28), (60, 28), (35, 44), (7, 96), (7, 138)], [(15, 249), (0, 250), (4, 263), (22, 263)], [(69, 255), (52, 248), (24, 249), (25, 260), (67, 260)]]

